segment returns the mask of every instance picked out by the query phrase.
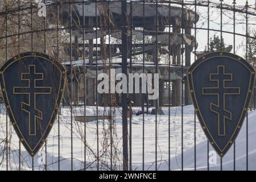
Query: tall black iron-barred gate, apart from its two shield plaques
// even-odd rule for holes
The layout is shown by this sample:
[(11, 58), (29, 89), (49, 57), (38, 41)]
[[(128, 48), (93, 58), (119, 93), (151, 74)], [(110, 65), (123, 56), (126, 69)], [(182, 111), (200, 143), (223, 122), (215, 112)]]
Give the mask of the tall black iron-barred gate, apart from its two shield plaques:
[[(255, 68), (253, 4), (1, 1), (1, 65), (22, 52), (46, 53), (65, 67), (67, 79), (55, 124), (34, 158), (1, 102), (0, 169), (255, 170), (255, 92), (240, 135), (219, 158), (201, 130), (186, 77), (197, 58), (213, 51), (245, 57)], [(98, 93), (98, 76), (111, 77), (113, 70), (159, 73), (158, 99)], [(144, 112), (134, 115), (139, 110)]]

